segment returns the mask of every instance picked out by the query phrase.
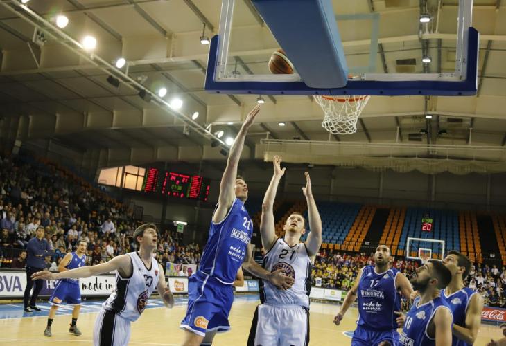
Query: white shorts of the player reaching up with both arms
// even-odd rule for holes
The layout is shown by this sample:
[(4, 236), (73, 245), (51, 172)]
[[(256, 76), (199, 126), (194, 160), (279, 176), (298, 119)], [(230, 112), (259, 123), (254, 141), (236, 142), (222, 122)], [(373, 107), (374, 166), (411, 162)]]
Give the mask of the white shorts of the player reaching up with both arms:
[(248, 346), (309, 345), (309, 311), (296, 305), (256, 307)]

